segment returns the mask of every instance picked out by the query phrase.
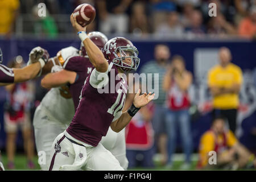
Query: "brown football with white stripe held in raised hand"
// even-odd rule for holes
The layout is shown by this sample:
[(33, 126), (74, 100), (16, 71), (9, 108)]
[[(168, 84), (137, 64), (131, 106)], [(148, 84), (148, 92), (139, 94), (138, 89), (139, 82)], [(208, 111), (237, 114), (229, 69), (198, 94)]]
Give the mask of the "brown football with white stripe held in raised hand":
[(84, 27), (94, 20), (96, 10), (92, 5), (84, 3), (76, 7), (73, 11), (73, 16), (76, 17), (77, 23)]

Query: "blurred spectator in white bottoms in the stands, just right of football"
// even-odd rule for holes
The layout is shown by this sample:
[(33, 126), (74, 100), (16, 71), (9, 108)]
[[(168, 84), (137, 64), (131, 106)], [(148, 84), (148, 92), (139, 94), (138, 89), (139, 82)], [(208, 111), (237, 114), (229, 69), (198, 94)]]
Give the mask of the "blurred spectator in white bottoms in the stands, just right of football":
[(129, 17), (126, 10), (132, 0), (106, 1), (98, 0), (98, 15), (100, 18), (100, 31), (104, 34), (126, 33), (129, 28)]

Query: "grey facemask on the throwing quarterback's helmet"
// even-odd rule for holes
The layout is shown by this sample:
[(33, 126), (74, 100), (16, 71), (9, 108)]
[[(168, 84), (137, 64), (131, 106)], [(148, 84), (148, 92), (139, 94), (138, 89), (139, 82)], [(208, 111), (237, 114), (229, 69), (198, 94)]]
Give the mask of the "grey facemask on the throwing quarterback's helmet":
[[(113, 59), (113, 64), (117, 65), (122, 69), (122, 71), (130, 72), (132, 69), (135, 71), (139, 67), (140, 59), (138, 57), (138, 50), (134, 46), (120, 46), (113, 52), (115, 58)], [(130, 63), (127, 62), (130, 60)]]

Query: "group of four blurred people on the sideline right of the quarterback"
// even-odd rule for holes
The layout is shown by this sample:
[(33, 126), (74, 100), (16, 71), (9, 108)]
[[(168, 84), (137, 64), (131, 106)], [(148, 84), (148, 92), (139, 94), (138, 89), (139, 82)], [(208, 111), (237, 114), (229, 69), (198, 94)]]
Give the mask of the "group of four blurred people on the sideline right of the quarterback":
[[(171, 61), (170, 61), (171, 60)], [(218, 51), (218, 64), (207, 73), (207, 86), (212, 97), (210, 113), (211, 126), (201, 136), (199, 143), (198, 168), (213, 167), (208, 163), (209, 152), (217, 153), (217, 167), (238, 169), (256, 167), (256, 159), (236, 138), (239, 94), (243, 82), (242, 70), (232, 62), (229, 48)], [(154, 100), (154, 114), (151, 117), (155, 134), (155, 149), (161, 154), (162, 165), (173, 168), (173, 154), (177, 150), (177, 134), (181, 135), (181, 147), (185, 155), (181, 169), (191, 168), (193, 152), (191, 112), (192, 98), (189, 88), (193, 82), (192, 73), (185, 67), (180, 55), (171, 55), (164, 44), (155, 47), (155, 59), (143, 65), (141, 73), (158, 73), (159, 80), (147, 82), (154, 89), (158, 81), (159, 97)], [(152, 90), (148, 90), (152, 91)], [(146, 121), (146, 119), (144, 119)]]

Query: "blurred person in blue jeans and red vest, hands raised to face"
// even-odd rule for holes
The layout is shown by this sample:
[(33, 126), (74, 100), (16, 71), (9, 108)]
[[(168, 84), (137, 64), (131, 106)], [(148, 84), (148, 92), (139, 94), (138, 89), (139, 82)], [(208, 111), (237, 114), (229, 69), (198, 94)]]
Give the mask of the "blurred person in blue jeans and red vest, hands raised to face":
[[(192, 73), (185, 69), (183, 57), (174, 56), (164, 76), (163, 89), (167, 92), (166, 130), (168, 134), (168, 168), (172, 168), (172, 154), (176, 150), (177, 129), (180, 129), (185, 153), (185, 163), (181, 169), (191, 165), (192, 131), (189, 116), (189, 86), (192, 84)], [(179, 126), (179, 127), (178, 127)]]

